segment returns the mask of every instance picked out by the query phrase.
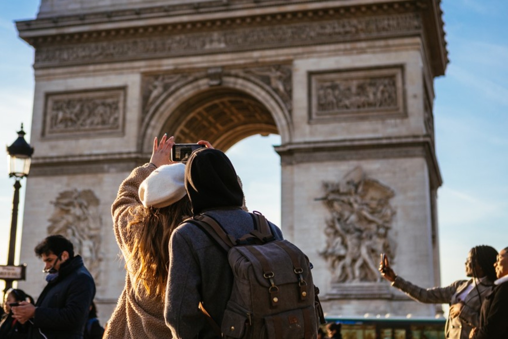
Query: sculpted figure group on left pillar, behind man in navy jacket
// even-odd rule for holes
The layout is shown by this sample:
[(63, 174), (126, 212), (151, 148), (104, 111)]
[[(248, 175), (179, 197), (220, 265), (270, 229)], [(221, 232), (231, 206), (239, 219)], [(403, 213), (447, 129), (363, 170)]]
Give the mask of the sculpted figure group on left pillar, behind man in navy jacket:
[(91, 190), (77, 189), (58, 194), (53, 213), (48, 219), (48, 234), (60, 234), (74, 244), (74, 253), (81, 255), (96, 285), (100, 282), (102, 246), (102, 219), (99, 212), (99, 198)]

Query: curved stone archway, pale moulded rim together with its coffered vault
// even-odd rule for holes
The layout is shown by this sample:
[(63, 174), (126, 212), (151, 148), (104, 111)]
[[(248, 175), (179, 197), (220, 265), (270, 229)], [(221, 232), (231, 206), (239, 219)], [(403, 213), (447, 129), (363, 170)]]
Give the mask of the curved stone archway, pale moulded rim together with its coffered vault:
[(290, 142), (288, 107), (272, 88), (242, 75), (225, 75), (220, 85), (203, 77), (177, 90), (170, 87), (146, 113), (140, 147), (148, 151), (153, 136), (162, 133), (180, 143), (209, 140), (223, 150), (254, 134), (280, 134), (282, 143)]

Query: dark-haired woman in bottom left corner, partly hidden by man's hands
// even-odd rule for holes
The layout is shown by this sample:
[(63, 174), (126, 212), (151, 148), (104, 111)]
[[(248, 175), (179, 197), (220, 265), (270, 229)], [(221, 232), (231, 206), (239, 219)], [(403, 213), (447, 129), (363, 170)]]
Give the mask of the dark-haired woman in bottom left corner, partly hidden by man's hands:
[(0, 321), (1, 339), (21, 339), (27, 337), (29, 323), (21, 324), (12, 317), (11, 303), (27, 301), (34, 304), (34, 298), (26, 294), (23, 290), (10, 288), (5, 293), (4, 312)]

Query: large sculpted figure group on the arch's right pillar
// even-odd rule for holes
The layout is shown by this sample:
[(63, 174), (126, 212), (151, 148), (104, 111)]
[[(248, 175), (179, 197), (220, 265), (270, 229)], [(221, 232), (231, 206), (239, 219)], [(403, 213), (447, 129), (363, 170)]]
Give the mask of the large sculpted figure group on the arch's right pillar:
[(338, 182), (324, 182), (322, 198), (331, 217), (326, 221), (326, 259), (332, 283), (377, 282), (379, 254), (395, 258), (390, 238), (394, 192), (356, 167)]

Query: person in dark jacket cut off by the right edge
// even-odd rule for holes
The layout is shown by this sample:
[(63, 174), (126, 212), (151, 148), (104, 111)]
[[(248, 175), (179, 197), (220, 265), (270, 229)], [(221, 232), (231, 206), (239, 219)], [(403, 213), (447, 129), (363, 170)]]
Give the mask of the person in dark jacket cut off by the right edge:
[(508, 247), (499, 252), (494, 267), (496, 287), (483, 302), (480, 326), (469, 335), (472, 339), (508, 338)]

